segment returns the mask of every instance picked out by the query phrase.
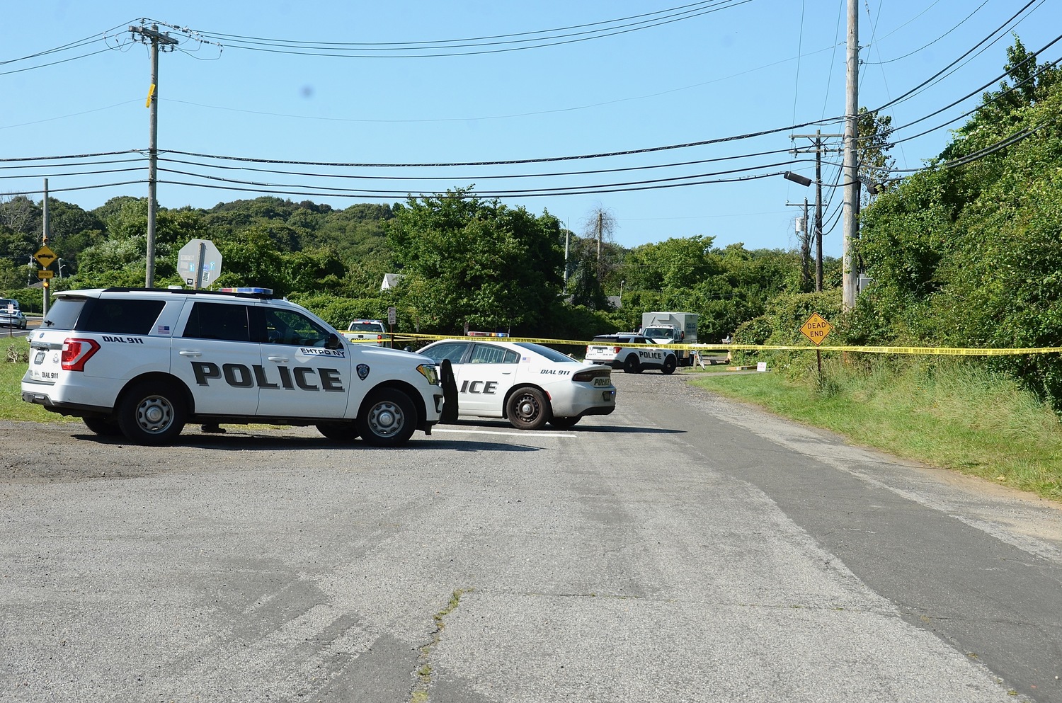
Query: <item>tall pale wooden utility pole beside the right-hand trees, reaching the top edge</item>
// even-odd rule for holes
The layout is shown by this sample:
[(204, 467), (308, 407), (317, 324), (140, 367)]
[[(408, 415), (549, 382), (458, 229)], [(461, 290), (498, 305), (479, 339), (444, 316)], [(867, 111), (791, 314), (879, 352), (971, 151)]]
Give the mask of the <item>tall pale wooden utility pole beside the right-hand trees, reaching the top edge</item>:
[(853, 242), (859, 238), (859, 173), (856, 160), (856, 140), (859, 138), (859, 1), (849, 0), (847, 70), (845, 72), (844, 101), (844, 290), (841, 309), (851, 310), (856, 305), (856, 285), (859, 272), (853, 260)]

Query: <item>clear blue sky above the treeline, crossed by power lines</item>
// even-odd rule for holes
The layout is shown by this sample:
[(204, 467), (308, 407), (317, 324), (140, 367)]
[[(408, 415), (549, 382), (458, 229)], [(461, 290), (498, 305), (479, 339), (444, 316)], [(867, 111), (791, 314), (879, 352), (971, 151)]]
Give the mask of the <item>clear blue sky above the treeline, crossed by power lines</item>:
[[(624, 246), (704, 235), (719, 246), (790, 248), (802, 208), (787, 203), (813, 203), (815, 189), (750, 176), (813, 176), (810, 156), (787, 151), (810, 140), (790, 135), (843, 132), (830, 118), (844, 113), (845, 8), (845, 0), (15, 3), (0, 25), (0, 196), (37, 191), (30, 196), (39, 201), (45, 177), (52, 196), (86, 209), (147, 195), (149, 50), (129, 31), (147, 18), (178, 40), (159, 57), (164, 207), (273, 193), (342, 208), (475, 186), (548, 210), (576, 233), (603, 208)], [(1055, 0), (860, 0), (859, 104), (897, 101), (883, 110), (903, 139), (891, 152), (896, 168), (940, 153), (965, 121), (955, 120), (1003, 72), (1012, 32), (1038, 51), (1060, 27)], [(1062, 41), (1040, 63), (1060, 56)], [(737, 138), (759, 132), (771, 134)], [(40, 158), (132, 150), (141, 153)], [(569, 158), (616, 152), (640, 153)], [(825, 183), (839, 182), (840, 160), (825, 156)], [(470, 165), (414, 166), (450, 164)], [(718, 183), (725, 178), (739, 181)], [(824, 193), (824, 253), (840, 256), (840, 191)]]

